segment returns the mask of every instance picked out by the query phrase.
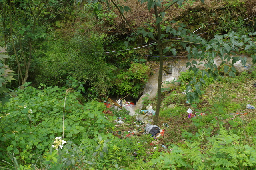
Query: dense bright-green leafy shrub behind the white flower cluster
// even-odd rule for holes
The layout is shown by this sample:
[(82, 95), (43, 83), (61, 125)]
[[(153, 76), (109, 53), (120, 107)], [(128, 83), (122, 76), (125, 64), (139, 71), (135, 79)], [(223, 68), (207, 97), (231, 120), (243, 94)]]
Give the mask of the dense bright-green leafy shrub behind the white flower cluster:
[(14, 152), (18, 161), (34, 163), (48, 152), (53, 139), (62, 134), (63, 110), (64, 139), (79, 144), (84, 139), (94, 141), (95, 135), (112, 128), (111, 117), (105, 117), (104, 104), (91, 101), (84, 105), (76, 98), (77, 92), (65, 88), (40, 86), (42, 90), (28, 86), (18, 90), (4, 107), (0, 118), (0, 159), (6, 159), (6, 151)]

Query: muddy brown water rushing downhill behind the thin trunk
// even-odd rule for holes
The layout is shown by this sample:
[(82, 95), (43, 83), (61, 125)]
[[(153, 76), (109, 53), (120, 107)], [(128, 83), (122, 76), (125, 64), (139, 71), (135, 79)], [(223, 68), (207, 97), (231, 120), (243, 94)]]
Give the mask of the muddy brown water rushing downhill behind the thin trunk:
[[(246, 56), (243, 56), (246, 57)], [(186, 67), (186, 63), (188, 62), (187, 58), (181, 58), (178, 61), (177, 60), (169, 60), (169, 61), (164, 61), (164, 71), (162, 75), (162, 82), (164, 81), (172, 81), (172, 80), (177, 80), (178, 77), (180, 76), (181, 72), (185, 72), (188, 70), (189, 67)], [(216, 57), (214, 59), (214, 64), (216, 66), (220, 66), (220, 63), (222, 63), (220, 57)], [(241, 61), (237, 61), (234, 66), (236, 67), (236, 70), (238, 72), (242, 72), (244, 70), (248, 70), (252, 66), (252, 59), (250, 57), (247, 57), (247, 63), (246, 66), (242, 66)], [(143, 101), (144, 98), (146, 97), (147, 100), (151, 100), (152, 98), (156, 97), (157, 95), (157, 84), (158, 84), (158, 68), (159, 65), (153, 67), (152, 69), (155, 70), (155, 73), (150, 76), (148, 79), (148, 82), (146, 83), (143, 91), (143, 95), (140, 97), (140, 99), (137, 101), (136, 105), (130, 105), (127, 106), (126, 109), (130, 111), (130, 115), (134, 115), (136, 113), (139, 113), (139, 111), (143, 107)], [(169, 88), (173, 86), (172, 84), (164, 85), (162, 88)]]

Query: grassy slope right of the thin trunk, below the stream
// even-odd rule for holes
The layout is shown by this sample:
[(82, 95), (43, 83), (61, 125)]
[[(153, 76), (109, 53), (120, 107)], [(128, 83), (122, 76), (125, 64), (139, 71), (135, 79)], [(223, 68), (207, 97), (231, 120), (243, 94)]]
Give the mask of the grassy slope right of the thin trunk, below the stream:
[[(186, 103), (185, 95), (181, 93), (179, 86), (170, 92), (164, 92), (159, 127), (165, 129), (165, 133), (164, 137), (158, 139), (159, 143), (182, 145), (184, 141), (196, 140), (200, 133), (211, 137), (218, 133), (218, 126), (222, 124), (226, 129), (243, 131), (244, 141), (254, 145), (255, 140), (252, 140), (250, 135), (255, 135), (253, 129), (256, 128), (256, 111), (246, 109), (247, 104), (256, 106), (256, 87), (252, 81), (256, 78), (254, 75), (255, 70), (251, 74), (242, 73), (242, 77), (221, 77), (213, 84), (204, 86), (202, 88), (204, 95), (200, 96), (194, 104)], [(154, 108), (156, 99), (151, 102)], [(175, 108), (167, 109), (171, 103), (175, 104)], [(190, 119), (186, 112), (188, 108), (191, 108), (194, 113), (199, 112), (205, 115)], [(230, 113), (248, 114), (230, 115)], [(164, 123), (167, 123), (169, 127), (164, 126)], [(135, 129), (132, 126), (135, 124), (123, 127), (123, 130)], [(142, 129), (143, 126), (142, 124)]]

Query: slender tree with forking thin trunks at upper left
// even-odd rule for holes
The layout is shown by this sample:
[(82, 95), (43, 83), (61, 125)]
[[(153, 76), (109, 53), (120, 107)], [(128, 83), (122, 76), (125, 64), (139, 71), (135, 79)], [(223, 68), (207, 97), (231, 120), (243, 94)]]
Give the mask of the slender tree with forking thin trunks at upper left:
[(53, 0), (0, 1), (4, 41), (6, 45), (12, 45), (11, 54), (16, 59), (20, 86), (28, 79), (36, 42), (46, 36), (40, 18), (42, 19), (43, 13), (49, 8), (49, 1)]

